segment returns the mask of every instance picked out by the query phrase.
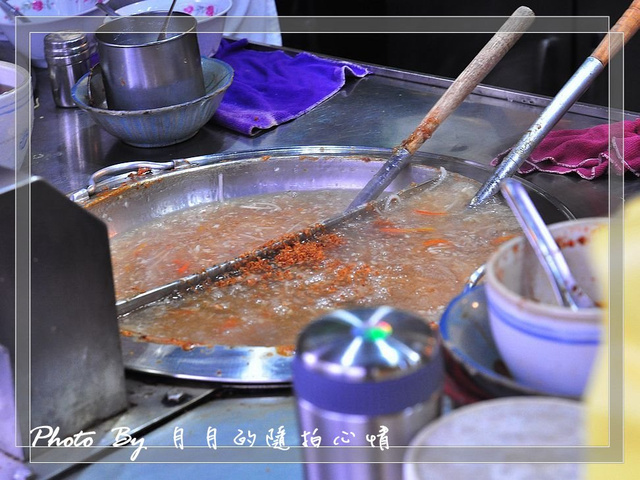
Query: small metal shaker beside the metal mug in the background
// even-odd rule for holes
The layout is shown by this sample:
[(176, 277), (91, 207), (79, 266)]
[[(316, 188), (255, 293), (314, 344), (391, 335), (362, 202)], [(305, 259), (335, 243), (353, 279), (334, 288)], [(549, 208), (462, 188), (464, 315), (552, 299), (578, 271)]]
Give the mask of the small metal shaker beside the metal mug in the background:
[(81, 32), (55, 32), (44, 37), (53, 100), (58, 107), (75, 107), (71, 88), (91, 68), (91, 45)]

